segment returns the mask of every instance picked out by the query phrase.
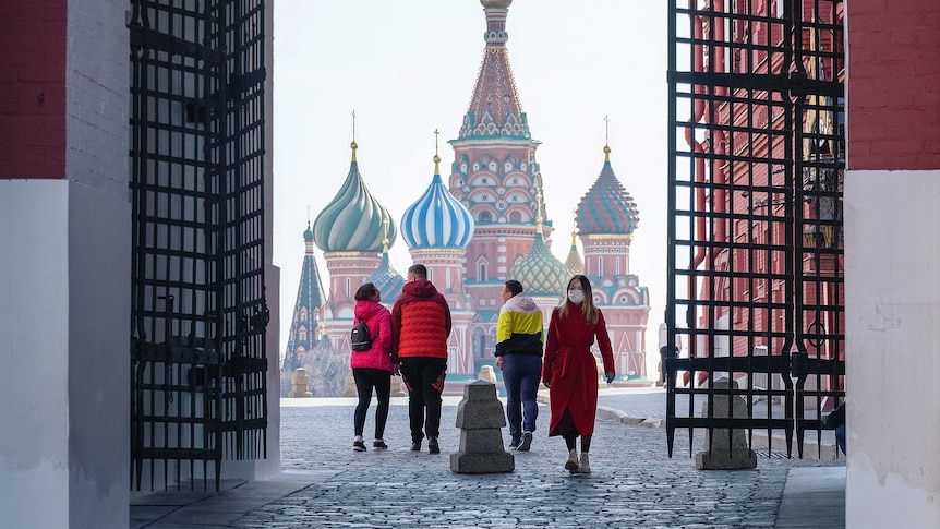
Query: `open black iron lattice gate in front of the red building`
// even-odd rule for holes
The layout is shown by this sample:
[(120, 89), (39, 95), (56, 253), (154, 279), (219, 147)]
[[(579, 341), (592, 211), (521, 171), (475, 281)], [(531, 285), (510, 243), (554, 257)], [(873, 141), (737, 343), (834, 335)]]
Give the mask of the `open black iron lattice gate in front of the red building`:
[(734, 428), (803, 457), (844, 397), (843, 3), (671, 0), (668, 32), (670, 455)]

